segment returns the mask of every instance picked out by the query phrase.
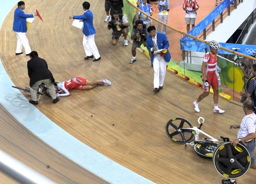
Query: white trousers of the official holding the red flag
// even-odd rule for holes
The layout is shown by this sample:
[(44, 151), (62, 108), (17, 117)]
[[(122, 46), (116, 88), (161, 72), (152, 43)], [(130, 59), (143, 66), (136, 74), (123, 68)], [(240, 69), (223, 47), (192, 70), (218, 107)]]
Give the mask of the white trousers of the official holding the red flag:
[(22, 46), (25, 49), (26, 54), (31, 53), (30, 44), (28, 44), (26, 33), (22, 32), (15, 32), (17, 37), (17, 46), (16, 46), (16, 53), (22, 52)]

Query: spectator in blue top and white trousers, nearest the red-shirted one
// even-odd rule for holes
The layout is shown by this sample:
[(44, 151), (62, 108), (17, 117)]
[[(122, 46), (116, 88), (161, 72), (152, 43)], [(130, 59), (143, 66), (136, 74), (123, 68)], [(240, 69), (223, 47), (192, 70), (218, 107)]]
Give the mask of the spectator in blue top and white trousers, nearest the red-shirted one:
[[(168, 22), (168, 11), (169, 11), (169, 2), (166, 0), (160, 0), (158, 1), (158, 20), (163, 22), (164, 24), (167, 24)], [(158, 31), (161, 32), (162, 24), (158, 23)], [(166, 26), (163, 26), (163, 33), (166, 34)]]

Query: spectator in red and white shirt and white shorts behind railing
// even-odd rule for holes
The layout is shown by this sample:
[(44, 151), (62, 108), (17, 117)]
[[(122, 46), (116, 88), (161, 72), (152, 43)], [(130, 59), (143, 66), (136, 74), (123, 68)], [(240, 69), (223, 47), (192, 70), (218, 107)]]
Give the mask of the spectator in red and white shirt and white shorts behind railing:
[(187, 32), (190, 31), (190, 24), (195, 27), (196, 23), (196, 10), (198, 10), (199, 5), (196, 0), (185, 0), (183, 3), (183, 10), (185, 13), (185, 22), (187, 24)]

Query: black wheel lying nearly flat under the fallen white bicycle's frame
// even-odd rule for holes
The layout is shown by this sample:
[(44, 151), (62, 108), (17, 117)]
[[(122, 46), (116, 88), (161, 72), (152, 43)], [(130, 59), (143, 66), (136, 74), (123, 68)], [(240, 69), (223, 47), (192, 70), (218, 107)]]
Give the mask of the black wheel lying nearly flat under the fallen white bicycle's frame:
[(213, 143), (212, 141), (204, 141), (195, 144), (194, 150), (200, 157), (212, 158), (217, 147), (217, 143)]

